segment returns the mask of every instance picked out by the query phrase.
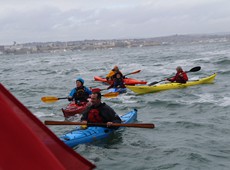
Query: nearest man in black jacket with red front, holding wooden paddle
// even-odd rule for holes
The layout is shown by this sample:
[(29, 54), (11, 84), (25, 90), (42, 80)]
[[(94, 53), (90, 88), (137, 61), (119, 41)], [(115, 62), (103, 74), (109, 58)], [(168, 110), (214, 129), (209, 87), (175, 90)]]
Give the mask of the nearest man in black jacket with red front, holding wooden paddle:
[[(82, 113), (83, 123), (106, 123), (107, 127), (114, 123), (121, 123), (120, 117), (106, 103), (101, 102), (101, 93), (93, 92), (88, 108)], [(117, 127), (113, 127), (117, 128)]]

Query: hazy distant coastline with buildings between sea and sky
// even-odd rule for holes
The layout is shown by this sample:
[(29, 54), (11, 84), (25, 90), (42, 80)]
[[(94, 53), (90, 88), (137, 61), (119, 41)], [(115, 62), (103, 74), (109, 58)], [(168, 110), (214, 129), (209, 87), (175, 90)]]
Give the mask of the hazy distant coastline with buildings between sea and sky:
[(0, 54), (58, 53), (75, 50), (99, 50), (113, 48), (149, 47), (184, 43), (230, 42), (230, 33), (171, 35), (142, 39), (83, 40), (67, 42), (31, 42), (24, 44), (1, 45)]

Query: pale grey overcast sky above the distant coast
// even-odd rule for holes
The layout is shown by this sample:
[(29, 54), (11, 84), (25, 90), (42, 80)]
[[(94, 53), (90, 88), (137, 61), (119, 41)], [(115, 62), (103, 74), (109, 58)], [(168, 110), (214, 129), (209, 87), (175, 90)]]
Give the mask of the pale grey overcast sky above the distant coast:
[(0, 0), (0, 45), (230, 32), (230, 0)]

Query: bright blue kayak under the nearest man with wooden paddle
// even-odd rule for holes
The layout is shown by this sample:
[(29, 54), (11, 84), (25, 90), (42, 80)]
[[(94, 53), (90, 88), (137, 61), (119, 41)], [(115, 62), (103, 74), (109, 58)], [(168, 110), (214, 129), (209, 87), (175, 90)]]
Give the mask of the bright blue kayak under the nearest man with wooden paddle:
[[(133, 123), (137, 120), (137, 110), (134, 109), (121, 116), (122, 123)], [(119, 127), (121, 129), (123, 127)], [(91, 126), (87, 129), (81, 129), (77, 126), (74, 130), (62, 135), (60, 139), (73, 148), (79, 144), (95, 142), (101, 139), (108, 138), (114, 131), (107, 127)]]

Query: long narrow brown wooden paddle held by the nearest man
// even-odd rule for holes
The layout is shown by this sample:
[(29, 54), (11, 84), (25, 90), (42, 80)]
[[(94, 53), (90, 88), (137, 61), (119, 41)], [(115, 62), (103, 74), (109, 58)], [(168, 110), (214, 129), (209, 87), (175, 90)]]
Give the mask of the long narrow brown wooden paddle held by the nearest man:
[[(106, 123), (83, 123), (83, 122), (69, 122), (69, 121), (52, 121), (46, 120), (45, 125), (87, 125), (87, 126), (105, 126)], [(154, 128), (153, 123), (113, 123), (111, 126), (114, 127), (135, 127), (135, 128)]]

